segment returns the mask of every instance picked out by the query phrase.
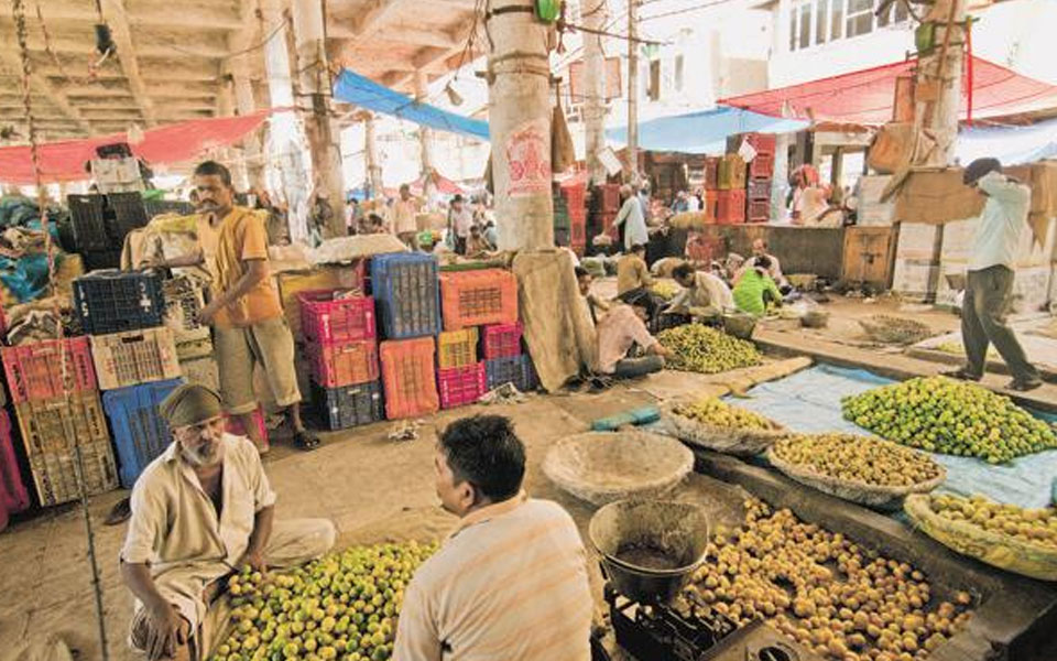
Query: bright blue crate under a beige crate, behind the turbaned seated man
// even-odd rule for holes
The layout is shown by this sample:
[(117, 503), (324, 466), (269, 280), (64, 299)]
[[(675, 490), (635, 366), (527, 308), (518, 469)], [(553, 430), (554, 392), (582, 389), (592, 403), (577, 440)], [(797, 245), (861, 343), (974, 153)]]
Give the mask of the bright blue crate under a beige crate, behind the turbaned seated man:
[(183, 379), (170, 379), (102, 393), (102, 408), (110, 419), (113, 444), (118, 448), (118, 475), (126, 489), (132, 488), (140, 473), (172, 442), (168, 424), (159, 414), (157, 407), (183, 382)]

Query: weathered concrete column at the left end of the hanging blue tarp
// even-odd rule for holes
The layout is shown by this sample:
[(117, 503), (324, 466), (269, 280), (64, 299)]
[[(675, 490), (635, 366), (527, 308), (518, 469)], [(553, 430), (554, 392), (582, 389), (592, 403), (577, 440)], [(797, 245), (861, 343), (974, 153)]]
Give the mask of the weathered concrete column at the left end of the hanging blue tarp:
[(320, 0), (291, 2), (301, 89), (312, 100), (312, 110), (305, 117), (305, 132), (312, 152), (316, 180), (330, 196), (335, 210), (331, 236), (345, 236), (345, 182), (341, 172), (341, 145), (331, 120), (330, 69), (327, 64), (326, 36)]

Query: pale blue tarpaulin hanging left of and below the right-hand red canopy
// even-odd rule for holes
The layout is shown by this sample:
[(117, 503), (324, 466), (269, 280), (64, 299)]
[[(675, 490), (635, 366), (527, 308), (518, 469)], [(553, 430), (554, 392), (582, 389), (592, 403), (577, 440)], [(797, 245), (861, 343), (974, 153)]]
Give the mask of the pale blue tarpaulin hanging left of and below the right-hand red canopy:
[[(735, 133), (792, 133), (806, 129), (808, 122), (781, 119), (752, 110), (719, 106), (713, 110), (662, 117), (639, 122), (639, 148), (649, 151), (674, 151), (685, 154), (722, 154), (727, 137)], [(628, 127), (609, 129), (606, 138), (628, 143)]]

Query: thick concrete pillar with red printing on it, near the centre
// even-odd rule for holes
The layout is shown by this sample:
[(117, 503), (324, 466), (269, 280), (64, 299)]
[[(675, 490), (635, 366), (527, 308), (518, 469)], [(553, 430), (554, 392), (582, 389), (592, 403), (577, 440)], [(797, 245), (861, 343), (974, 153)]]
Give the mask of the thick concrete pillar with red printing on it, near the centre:
[(533, 0), (488, 0), (488, 120), (501, 250), (554, 246), (549, 28)]

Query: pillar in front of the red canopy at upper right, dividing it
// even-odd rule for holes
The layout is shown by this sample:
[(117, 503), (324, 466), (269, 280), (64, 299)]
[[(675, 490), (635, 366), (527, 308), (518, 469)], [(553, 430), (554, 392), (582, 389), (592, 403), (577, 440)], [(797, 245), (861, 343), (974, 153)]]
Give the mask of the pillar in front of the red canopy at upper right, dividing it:
[(961, 111), (966, 0), (936, 0), (925, 23), (936, 25), (936, 45), (918, 62), (914, 122), (936, 147), (918, 153), (915, 164), (946, 166), (955, 158)]

